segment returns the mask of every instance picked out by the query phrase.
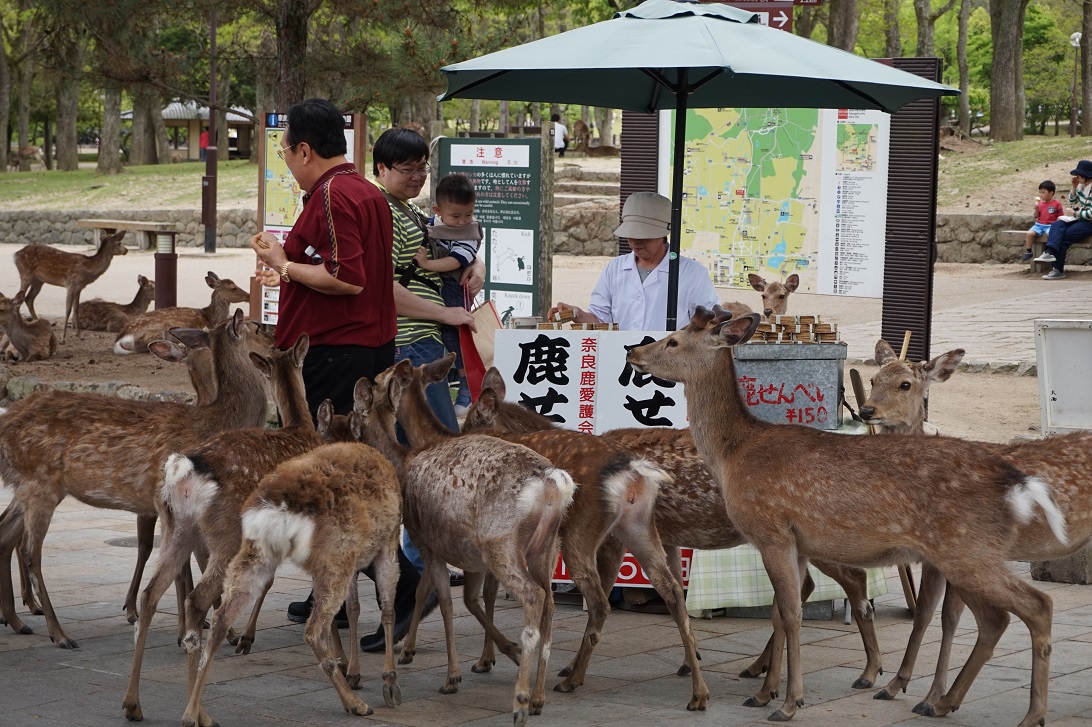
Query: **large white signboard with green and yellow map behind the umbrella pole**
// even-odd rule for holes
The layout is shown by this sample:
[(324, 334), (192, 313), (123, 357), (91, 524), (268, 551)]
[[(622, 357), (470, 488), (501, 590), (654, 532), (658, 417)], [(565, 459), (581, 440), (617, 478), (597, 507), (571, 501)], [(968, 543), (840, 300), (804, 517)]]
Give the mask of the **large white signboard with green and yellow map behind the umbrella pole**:
[[(669, 194), (675, 112), (663, 114)], [(797, 273), (805, 293), (882, 297), (889, 143), (881, 111), (689, 109), (682, 253), (717, 286)]]

